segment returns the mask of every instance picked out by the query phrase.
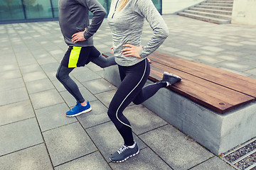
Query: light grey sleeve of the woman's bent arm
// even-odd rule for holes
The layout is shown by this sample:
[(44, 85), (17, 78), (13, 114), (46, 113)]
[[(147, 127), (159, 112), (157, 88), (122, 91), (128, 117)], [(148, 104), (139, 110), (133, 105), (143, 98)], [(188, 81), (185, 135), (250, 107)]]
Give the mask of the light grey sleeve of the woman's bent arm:
[(146, 18), (146, 21), (153, 30), (151, 39), (139, 51), (140, 57), (144, 58), (154, 52), (166, 40), (169, 35), (169, 28), (151, 0), (137, 0), (136, 12)]

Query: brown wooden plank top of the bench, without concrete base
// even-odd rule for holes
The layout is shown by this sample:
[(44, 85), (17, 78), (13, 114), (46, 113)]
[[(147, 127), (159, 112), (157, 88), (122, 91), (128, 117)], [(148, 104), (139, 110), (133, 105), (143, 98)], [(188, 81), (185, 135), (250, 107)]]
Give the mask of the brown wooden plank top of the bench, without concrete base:
[(177, 74), (182, 81), (169, 89), (217, 113), (227, 113), (255, 101), (256, 79), (160, 52), (154, 52), (149, 58), (149, 79), (161, 80), (164, 71)]

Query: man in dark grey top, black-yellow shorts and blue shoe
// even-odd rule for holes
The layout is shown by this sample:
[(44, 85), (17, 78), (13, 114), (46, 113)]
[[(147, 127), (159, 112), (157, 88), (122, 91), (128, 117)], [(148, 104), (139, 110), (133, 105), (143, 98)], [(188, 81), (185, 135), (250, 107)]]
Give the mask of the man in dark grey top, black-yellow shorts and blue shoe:
[[(93, 14), (91, 23), (89, 11)], [(66, 112), (68, 117), (92, 110), (89, 101), (82, 97), (78, 85), (69, 77), (70, 72), (75, 67), (84, 67), (89, 62), (102, 68), (116, 64), (114, 57), (103, 57), (93, 46), (92, 35), (100, 28), (105, 15), (105, 8), (97, 0), (59, 0), (60, 30), (69, 47), (56, 77), (77, 101), (76, 106)]]

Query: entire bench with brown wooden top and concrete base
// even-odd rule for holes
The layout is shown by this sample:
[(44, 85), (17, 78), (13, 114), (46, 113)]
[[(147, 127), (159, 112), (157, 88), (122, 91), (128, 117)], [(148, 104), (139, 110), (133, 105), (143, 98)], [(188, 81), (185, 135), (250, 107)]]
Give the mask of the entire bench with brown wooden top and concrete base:
[[(163, 72), (170, 72), (182, 81), (169, 86), (171, 91), (159, 91), (144, 106), (214, 154), (256, 136), (256, 79), (161, 52), (149, 59), (149, 80), (159, 81)], [(117, 68), (105, 70), (105, 79), (118, 86)]]

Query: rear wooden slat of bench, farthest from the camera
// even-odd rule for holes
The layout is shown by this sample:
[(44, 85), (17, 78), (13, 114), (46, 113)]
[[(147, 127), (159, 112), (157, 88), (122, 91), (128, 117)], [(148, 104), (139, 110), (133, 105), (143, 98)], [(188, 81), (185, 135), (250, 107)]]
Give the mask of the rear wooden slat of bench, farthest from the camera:
[(169, 55), (163, 55), (159, 52), (154, 52), (149, 58), (152, 62), (166, 64), (169, 67), (182, 70), (183, 72), (187, 72), (196, 77), (201, 77), (201, 79), (213, 81), (215, 84), (220, 84), (221, 86), (256, 97), (256, 79), (244, 77), (208, 65), (206, 66), (205, 64), (191, 62), (177, 57), (170, 57)]

